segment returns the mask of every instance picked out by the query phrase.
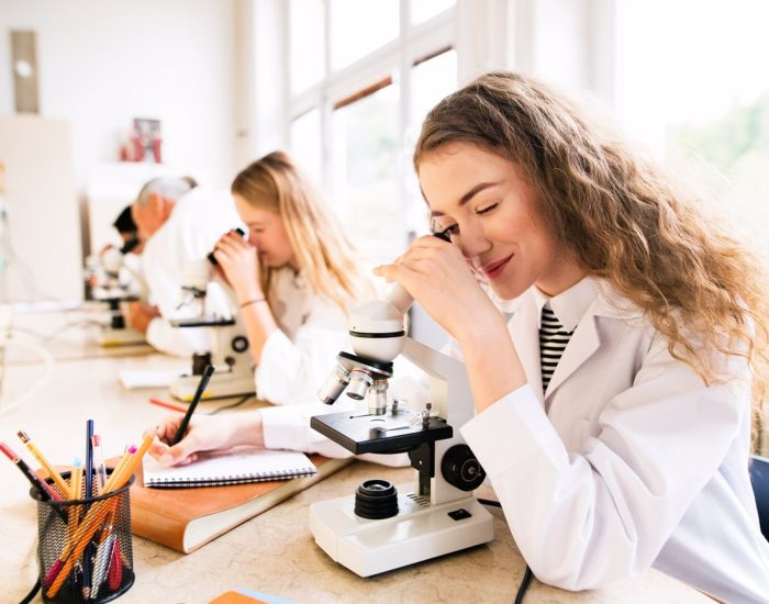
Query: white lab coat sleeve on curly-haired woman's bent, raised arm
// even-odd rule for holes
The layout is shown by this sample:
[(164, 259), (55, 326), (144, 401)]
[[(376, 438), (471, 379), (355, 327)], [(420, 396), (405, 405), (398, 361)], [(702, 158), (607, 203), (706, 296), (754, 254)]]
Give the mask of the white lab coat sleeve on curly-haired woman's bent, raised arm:
[(737, 379), (706, 387), (656, 339), (580, 451), (565, 448), (527, 384), (461, 428), (539, 580), (593, 589), (651, 566), (749, 409), (747, 365), (728, 366)]

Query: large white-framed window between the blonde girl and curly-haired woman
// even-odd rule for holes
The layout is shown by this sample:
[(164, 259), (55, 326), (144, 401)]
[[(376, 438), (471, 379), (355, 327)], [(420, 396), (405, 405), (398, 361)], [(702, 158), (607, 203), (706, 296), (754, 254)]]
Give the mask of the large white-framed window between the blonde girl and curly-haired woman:
[[(389, 261), (405, 247), (408, 232), (428, 227), (411, 155), (427, 110), (456, 89), (454, 0), (310, 3), (323, 7), (313, 14), (328, 15), (323, 43), (311, 38), (310, 45), (328, 56), (320, 75), (312, 71), (314, 81), (289, 77), (291, 150), (322, 175), (354, 243), (372, 260)], [(294, 0), (289, 11), (297, 57), (308, 53), (301, 48), (307, 25), (298, 23), (303, 7)], [(290, 68), (304, 69), (297, 57)]]

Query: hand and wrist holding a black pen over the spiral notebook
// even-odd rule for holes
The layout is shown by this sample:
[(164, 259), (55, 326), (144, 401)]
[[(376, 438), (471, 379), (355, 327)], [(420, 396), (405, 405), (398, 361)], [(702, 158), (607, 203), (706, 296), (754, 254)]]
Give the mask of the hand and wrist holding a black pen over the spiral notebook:
[(198, 459), (200, 451), (223, 451), (238, 445), (264, 446), (261, 414), (239, 413), (237, 416), (192, 416), (183, 438), (172, 447), (181, 414), (164, 417), (153, 430), (155, 441), (149, 455), (164, 466), (185, 466)]

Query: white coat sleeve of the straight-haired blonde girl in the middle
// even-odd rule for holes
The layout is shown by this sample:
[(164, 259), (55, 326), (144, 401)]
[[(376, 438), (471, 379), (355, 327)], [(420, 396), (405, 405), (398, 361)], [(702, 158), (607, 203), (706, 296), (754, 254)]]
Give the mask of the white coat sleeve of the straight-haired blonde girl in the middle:
[(332, 307), (314, 309), (293, 340), (274, 331), (256, 367), (257, 395), (277, 405), (315, 401), (336, 355), (348, 346), (344, 315)]

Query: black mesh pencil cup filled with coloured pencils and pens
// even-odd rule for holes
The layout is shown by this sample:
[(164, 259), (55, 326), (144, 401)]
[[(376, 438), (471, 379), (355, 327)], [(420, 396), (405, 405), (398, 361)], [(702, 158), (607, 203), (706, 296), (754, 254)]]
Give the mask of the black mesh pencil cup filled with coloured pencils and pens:
[[(62, 478), (67, 480), (69, 472)], [(37, 567), (44, 602), (109, 602), (133, 585), (129, 491), (133, 481), (131, 477), (111, 493), (75, 501), (43, 501), (36, 490), (30, 491), (37, 502)]]

